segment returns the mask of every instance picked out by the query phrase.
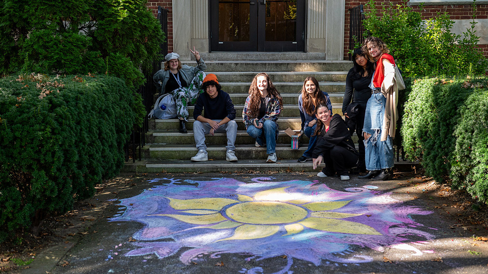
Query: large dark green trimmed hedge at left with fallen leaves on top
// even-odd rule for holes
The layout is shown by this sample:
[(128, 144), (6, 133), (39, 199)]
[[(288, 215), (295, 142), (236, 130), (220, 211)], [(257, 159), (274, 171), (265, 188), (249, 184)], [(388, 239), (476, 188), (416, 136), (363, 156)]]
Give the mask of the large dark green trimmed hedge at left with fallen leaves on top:
[(117, 175), (142, 117), (140, 96), (113, 76), (0, 79), (0, 242)]

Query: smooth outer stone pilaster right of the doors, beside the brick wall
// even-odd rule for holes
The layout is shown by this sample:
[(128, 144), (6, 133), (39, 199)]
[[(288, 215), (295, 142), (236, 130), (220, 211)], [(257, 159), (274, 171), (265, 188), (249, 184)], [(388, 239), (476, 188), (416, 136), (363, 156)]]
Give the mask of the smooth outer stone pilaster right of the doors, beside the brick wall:
[(344, 60), (345, 0), (327, 0), (325, 23), (325, 59)]

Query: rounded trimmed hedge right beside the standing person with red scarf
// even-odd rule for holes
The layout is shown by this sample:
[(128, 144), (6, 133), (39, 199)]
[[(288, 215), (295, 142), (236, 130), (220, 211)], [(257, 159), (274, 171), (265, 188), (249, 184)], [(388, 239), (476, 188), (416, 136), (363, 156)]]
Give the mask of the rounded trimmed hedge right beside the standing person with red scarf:
[[(473, 119), (467, 110), (461, 110), (471, 102), (468, 98), (474, 92), (472, 85), (482, 81), (486, 83), (486, 78), (472, 79), (473, 84), (469, 85), (463, 79), (426, 78), (416, 80), (412, 86), (401, 128), (403, 146), (406, 157), (421, 162), (426, 173), (438, 182), (452, 179), (451, 167), (462, 155), (455, 150), (456, 145), (461, 145), (457, 144), (460, 140), (455, 131), (459, 135), (463, 131), (458, 126), (460, 122)], [(480, 137), (477, 133), (476, 138)]]

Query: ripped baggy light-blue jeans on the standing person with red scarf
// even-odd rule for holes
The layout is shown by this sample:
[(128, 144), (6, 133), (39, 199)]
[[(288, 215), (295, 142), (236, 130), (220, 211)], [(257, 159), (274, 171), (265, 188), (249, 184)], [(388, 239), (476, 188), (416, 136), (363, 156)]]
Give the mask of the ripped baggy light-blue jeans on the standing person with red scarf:
[(380, 170), (393, 167), (393, 141), (390, 136), (380, 141), (386, 98), (381, 93), (371, 94), (367, 100), (363, 132), (371, 137), (364, 140), (367, 170)]

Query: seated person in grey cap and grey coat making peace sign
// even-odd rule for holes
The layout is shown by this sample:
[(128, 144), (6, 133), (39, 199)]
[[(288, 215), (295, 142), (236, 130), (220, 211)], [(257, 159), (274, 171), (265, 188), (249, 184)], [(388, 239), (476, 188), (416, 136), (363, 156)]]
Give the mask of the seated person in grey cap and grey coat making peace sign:
[(152, 77), (159, 89), (159, 94), (170, 93), (176, 103), (177, 116), (180, 120), (180, 133), (188, 133), (185, 121), (188, 121), (188, 106), (195, 104), (198, 95), (203, 92), (202, 84), (207, 65), (200, 57), (200, 53), (193, 47), (190, 51), (197, 60), (196, 67), (181, 65), (177, 53), (168, 53), (164, 58), (164, 69), (158, 70)]

